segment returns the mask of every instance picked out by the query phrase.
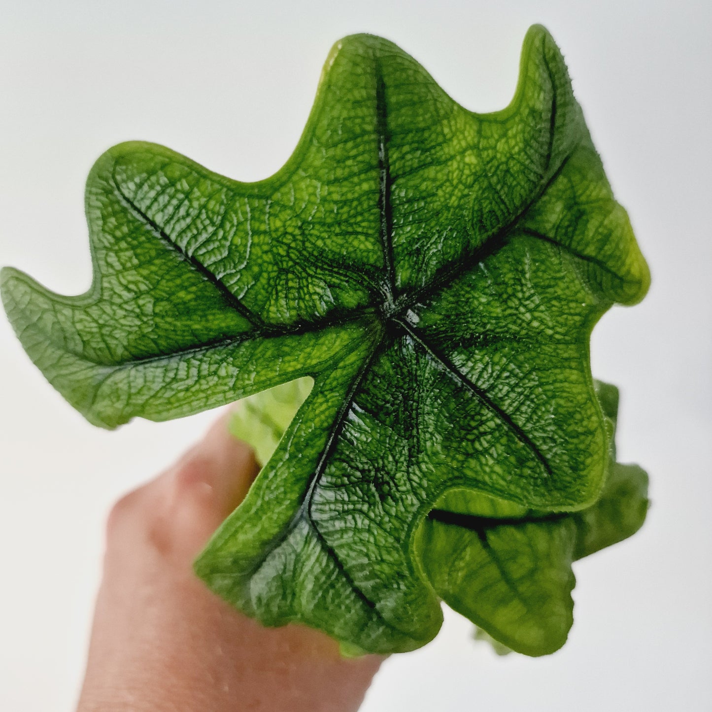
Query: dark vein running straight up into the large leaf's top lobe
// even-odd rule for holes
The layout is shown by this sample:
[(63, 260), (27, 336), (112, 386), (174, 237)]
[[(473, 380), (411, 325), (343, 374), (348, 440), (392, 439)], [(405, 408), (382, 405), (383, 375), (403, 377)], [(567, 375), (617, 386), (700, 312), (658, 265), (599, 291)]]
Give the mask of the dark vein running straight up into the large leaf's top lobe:
[(376, 133), (378, 137), (378, 212), (379, 237), (383, 248), (383, 263), (386, 277), (384, 286), (384, 305), (392, 310), (395, 294), (395, 273), (393, 266), (393, 208), (391, 204), (391, 169), (388, 160), (388, 108), (386, 104), (386, 85), (380, 63), (376, 62)]

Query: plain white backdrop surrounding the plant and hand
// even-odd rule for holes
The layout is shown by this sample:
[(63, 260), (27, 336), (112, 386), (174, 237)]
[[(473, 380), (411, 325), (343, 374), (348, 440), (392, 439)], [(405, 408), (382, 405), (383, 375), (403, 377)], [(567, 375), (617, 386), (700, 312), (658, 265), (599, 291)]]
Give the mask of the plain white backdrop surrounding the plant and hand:
[[(90, 283), (83, 184), (110, 145), (266, 177), (341, 36), (396, 41), (487, 111), (511, 98), (528, 26), (548, 26), (651, 265), (648, 298), (604, 316), (592, 360), (622, 389), (619, 459), (649, 471), (653, 505), (638, 535), (575, 565), (561, 651), (499, 659), (450, 614), (362, 709), (712, 709), (712, 4), (1, 0), (0, 18), (0, 263), (63, 293)], [(95, 429), (0, 318), (0, 709), (73, 708), (108, 508), (214, 417)]]

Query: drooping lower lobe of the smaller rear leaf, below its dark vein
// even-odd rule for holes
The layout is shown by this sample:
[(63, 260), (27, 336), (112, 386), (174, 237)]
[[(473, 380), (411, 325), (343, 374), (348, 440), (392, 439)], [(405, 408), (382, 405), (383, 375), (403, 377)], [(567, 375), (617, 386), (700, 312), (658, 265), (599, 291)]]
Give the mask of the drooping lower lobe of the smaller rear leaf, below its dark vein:
[(559, 649), (573, 622), (575, 523), (448, 515), (431, 513), (417, 540), (437, 595), (513, 650)]

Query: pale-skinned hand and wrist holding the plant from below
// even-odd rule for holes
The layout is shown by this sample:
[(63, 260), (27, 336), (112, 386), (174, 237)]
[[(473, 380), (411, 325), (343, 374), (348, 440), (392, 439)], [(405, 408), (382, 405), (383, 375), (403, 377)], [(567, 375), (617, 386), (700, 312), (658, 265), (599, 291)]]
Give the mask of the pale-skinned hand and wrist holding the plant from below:
[(325, 634), (267, 629), (192, 571), (258, 466), (225, 414), (112, 509), (77, 712), (351, 712), (383, 658), (344, 659)]

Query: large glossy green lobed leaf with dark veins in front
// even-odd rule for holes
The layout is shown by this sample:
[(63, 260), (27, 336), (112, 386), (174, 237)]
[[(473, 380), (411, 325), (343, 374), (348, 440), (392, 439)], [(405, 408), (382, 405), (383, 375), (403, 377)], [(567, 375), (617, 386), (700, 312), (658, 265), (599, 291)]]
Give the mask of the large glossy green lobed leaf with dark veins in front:
[(91, 422), (313, 388), (199, 575), (266, 624), (407, 650), (439, 629), (417, 532), (448, 490), (575, 511), (609, 434), (588, 363), (649, 273), (565, 63), (529, 31), (511, 104), (476, 114), (380, 38), (337, 43), (271, 178), (127, 143), (90, 173), (93, 286), (1, 290), (23, 346)]

